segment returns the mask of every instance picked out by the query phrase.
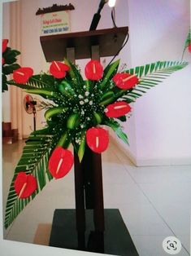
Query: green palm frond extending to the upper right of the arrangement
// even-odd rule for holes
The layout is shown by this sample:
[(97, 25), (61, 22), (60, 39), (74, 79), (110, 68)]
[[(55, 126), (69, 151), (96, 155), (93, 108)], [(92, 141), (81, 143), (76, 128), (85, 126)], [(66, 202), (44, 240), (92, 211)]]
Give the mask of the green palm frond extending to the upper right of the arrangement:
[(118, 95), (120, 96), (121, 94), (122, 97), (120, 99), (124, 99), (128, 103), (134, 102), (147, 92), (147, 90), (163, 82), (171, 73), (184, 68), (187, 64), (187, 62), (183, 61), (158, 61), (156, 63), (125, 70), (126, 73), (136, 73), (140, 82), (132, 90), (121, 91)]

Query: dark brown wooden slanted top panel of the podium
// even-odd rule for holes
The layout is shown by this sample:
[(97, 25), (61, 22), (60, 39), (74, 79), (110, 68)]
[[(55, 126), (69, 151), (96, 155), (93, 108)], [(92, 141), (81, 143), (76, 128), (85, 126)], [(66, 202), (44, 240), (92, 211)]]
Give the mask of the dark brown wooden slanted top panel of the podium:
[(100, 57), (113, 56), (119, 51), (128, 27), (63, 33), (40, 38), (46, 61), (63, 60), (67, 48), (75, 48), (76, 60), (91, 58), (91, 46), (99, 45)]

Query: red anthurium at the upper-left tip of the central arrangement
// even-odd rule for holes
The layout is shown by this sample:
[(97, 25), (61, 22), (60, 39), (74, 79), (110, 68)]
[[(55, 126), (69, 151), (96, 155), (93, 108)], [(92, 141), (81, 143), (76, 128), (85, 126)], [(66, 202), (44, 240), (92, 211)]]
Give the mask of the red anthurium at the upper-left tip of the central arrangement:
[(18, 68), (13, 71), (13, 79), (17, 83), (26, 83), (33, 76), (33, 68)]

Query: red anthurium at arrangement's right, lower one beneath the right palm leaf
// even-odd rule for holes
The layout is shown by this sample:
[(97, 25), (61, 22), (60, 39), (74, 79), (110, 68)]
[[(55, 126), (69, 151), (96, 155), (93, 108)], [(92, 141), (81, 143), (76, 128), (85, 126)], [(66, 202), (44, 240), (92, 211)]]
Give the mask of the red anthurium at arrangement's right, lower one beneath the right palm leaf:
[(131, 107), (125, 101), (118, 101), (106, 107), (106, 117), (122, 117), (131, 111)]

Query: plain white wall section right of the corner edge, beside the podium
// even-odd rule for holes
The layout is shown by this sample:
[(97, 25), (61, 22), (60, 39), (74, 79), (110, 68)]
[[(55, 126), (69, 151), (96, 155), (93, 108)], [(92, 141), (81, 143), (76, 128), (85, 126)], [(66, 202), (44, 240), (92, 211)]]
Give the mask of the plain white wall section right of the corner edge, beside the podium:
[[(129, 0), (132, 66), (180, 60), (189, 31), (189, 1)], [(185, 55), (191, 60), (191, 55)], [(191, 160), (190, 65), (134, 105), (137, 164), (176, 164)]]

